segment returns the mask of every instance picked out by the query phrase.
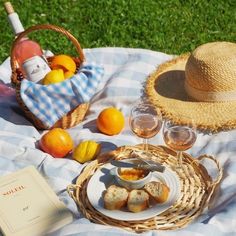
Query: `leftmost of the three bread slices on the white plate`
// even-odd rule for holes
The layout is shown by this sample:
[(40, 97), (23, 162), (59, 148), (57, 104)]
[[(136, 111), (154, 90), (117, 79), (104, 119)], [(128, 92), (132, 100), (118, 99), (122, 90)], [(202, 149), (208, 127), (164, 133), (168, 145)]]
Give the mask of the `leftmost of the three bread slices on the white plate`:
[(104, 207), (108, 210), (119, 210), (126, 205), (128, 195), (127, 189), (111, 185), (104, 194)]

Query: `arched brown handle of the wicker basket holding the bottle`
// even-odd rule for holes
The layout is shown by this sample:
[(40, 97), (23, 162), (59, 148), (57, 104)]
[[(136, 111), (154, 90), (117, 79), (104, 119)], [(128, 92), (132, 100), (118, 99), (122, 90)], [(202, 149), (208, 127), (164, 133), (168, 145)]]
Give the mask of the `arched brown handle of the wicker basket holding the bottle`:
[(15, 61), (14, 58), (14, 50), (16, 48), (17, 43), (24, 37), (26, 37), (29, 33), (33, 32), (33, 31), (38, 31), (38, 30), (53, 30), (56, 31), (58, 33), (62, 33), (64, 34), (68, 39), (70, 39), (73, 43), (73, 45), (75, 46), (78, 55), (79, 55), (79, 59), (81, 61), (81, 63), (85, 60), (84, 57), (84, 53), (80, 47), (80, 44), (78, 42), (78, 40), (67, 30), (59, 27), (59, 26), (55, 26), (55, 25), (50, 25), (50, 24), (43, 24), (43, 25), (35, 25), (32, 27), (29, 27), (28, 29), (26, 29), (25, 31), (21, 32), (17, 38), (13, 41), (12, 47), (11, 47), (11, 57), (10, 57), (10, 62), (11, 62), (11, 68), (12, 71), (15, 71), (17, 68), (17, 62)]

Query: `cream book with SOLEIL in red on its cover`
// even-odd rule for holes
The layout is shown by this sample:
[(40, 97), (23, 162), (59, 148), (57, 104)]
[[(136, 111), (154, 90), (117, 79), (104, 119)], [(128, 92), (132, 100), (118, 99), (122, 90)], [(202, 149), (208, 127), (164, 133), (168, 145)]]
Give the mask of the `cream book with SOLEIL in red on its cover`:
[(0, 228), (4, 235), (45, 235), (72, 214), (34, 166), (0, 177)]

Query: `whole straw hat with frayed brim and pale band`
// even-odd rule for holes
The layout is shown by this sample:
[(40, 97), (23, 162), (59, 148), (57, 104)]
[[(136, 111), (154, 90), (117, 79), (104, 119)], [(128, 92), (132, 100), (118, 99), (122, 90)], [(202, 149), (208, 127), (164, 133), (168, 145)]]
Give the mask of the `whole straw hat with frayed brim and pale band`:
[(200, 130), (236, 128), (236, 44), (206, 43), (160, 65), (146, 93), (176, 123), (185, 123), (186, 116)]

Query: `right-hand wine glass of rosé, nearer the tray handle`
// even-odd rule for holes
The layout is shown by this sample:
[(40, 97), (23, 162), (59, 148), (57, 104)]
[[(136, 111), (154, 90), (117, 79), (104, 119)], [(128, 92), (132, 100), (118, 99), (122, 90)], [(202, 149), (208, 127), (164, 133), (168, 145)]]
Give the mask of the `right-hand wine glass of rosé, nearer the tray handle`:
[(182, 152), (191, 148), (197, 139), (194, 121), (189, 118), (188, 122), (180, 125), (175, 124), (170, 120), (166, 120), (163, 126), (163, 138), (169, 148), (177, 151), (177, 167), (182, 168)]

